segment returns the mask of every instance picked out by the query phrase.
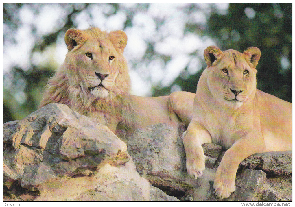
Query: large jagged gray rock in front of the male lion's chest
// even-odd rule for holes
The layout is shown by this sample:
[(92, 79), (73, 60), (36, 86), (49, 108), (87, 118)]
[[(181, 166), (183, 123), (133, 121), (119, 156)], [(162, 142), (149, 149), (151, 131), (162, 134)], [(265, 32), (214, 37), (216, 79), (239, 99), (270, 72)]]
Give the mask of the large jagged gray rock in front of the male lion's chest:
[(79, 168), (98, 168), (127, 154), (126, 144), (107, 127), (62, 104), (49, 104), (23, 120), (3, 124), (3, 129), (3, 162), (10, 169), (4, 183), (20, 179), (28, 189), (51, 179), (36, 177), (42, 169), (50, 168), (52, 176), (73, 175)]

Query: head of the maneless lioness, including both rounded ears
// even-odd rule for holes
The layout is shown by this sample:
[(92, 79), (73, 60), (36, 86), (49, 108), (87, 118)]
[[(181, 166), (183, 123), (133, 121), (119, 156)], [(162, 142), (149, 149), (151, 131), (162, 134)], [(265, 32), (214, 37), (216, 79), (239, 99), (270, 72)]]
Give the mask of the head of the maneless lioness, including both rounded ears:
[(204, 55), (208, 65), (207, 84), (214, 98), (230, 107), (242, 106), (256, 89), (255, 66), (260, 58), (260, 50), (250, 47), (244, 53), (235, 50), (222, 52), (211, 46)]

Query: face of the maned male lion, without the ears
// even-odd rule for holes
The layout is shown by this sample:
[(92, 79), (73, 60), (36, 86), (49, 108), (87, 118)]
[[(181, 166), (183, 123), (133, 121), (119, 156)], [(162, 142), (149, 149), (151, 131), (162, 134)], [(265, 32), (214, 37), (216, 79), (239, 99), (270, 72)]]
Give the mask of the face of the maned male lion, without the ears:
[(77, 51), (80, 84), (94, 96), (106, 98), (116, 81), (118, 54), (112, 45), (87, 40)]

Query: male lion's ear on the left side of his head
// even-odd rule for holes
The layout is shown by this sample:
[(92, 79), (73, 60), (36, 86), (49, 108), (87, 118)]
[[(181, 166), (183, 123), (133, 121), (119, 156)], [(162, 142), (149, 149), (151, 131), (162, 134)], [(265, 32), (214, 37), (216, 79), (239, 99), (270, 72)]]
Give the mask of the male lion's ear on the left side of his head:
[(68, 29), (65, 33), (65, 44), (68, 45), (68, 51), (73, 50), (77, 45), (81, 45), (86, 41), (83, 32), (78, 29)]

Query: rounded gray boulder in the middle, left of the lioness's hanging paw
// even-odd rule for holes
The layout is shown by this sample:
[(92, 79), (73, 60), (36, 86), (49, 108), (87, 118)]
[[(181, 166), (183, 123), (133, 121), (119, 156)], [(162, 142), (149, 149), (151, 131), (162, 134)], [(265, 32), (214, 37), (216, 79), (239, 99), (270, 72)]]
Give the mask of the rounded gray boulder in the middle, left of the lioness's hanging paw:
[(182, 140), (169, 125), (137, 129), (127, 142), (127, 150), (137, 172), (168, 195), (184, 196), (193, 189), (194, 182), (186, 175)]

